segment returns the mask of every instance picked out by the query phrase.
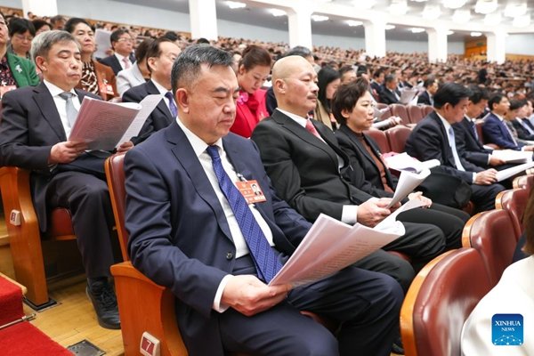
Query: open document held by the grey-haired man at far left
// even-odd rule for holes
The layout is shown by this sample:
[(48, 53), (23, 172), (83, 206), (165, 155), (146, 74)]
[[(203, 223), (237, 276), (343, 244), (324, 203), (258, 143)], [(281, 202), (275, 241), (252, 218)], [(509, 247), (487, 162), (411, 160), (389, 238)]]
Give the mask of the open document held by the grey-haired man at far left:
[(88, 150), (113, 150), (137, 136), (162, 95), (147, 95), (140, 103), (100, 101), (85, 96), (69, 141), (88, 143)]

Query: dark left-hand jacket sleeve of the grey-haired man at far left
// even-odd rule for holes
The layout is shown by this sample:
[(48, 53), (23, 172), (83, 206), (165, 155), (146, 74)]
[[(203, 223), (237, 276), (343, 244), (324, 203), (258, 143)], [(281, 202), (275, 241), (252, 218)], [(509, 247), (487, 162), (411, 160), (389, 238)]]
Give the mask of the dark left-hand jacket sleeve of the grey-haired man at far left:
[[(4, 94), (0, 120), (0, 166), (48, 170), (51, 145), (29, 146), (28, 108), (21, 105), (20, 90)], [(28, 99), (29, 100), (29, 99)]]

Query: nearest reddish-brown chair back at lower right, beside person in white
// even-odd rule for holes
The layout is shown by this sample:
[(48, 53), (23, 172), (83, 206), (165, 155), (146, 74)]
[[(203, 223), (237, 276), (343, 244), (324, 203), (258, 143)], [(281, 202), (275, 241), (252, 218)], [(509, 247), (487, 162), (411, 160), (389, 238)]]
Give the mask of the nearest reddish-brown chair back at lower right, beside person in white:
[(402, 303), (405, 354), (459, 356), (464, 321), (490, 288), (481, 255), (473, 248), (446, 252), (426, 264)]

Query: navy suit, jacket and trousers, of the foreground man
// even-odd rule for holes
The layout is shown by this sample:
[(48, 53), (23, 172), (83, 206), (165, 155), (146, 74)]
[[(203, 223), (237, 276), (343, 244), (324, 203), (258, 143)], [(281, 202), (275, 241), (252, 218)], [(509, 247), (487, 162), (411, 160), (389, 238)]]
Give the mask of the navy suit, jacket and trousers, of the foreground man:
[[(275, 247), (291, 255), (311, 224), (274, 195), (252, 141), (228, 134), (223, 147), (237, 172), (257, 180), (267, 201), (255, 206), (272, 231)], [(229, 273), (243, 273), (236, 269), (246, 257), (236, 260), (223, 207), (175, 121), (128, 151), (125, 176), (132, 262), (176, 295), (177, 319), (190, 355), (223, 355), (223, 349), (306, 352), (295, 350), (296, 335), (313, 344), (310, 354), (334, 353), (336, 339), (301, 316), (297, 311), (302, 309), (345, 321), (338, 334), (342, 354), (389, 355), (401, 288), (380, 273), (344, 269), (313, 289), (296, 288), (286, 302), (253, 317), (233, 309), (212, 310), (221, 280)]]

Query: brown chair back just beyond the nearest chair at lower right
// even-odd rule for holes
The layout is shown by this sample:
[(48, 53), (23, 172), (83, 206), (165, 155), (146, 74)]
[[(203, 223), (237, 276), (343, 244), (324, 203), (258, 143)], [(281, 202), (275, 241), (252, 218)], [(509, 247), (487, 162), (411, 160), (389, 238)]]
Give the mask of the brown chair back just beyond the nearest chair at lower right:
[(516, 243), (512, 219), (502, 209), (474, 215), (462, 233), (462, 246), (473, 247), (481, 254), (491, 287), (498, 283), (503, 271), (512, 263)]

